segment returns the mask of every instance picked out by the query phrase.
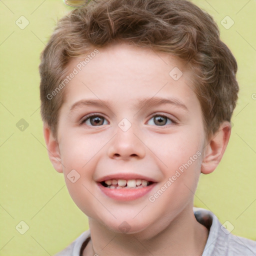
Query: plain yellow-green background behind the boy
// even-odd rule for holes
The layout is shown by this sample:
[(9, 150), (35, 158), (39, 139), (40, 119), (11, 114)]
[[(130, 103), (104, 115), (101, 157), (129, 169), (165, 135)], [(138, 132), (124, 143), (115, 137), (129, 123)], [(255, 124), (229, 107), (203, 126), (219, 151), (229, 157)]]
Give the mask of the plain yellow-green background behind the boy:
[[(217, 22), (240, 85), (227, 150), (212, 174), (201, 175), (194, 204), (229, 221), (233, 234), (256, 239), (256, 1), (192, 2)], [(62, 0), (0, 0), (0, 255), (52, 255), (88, 228), (48, 160), (39, 111), (39, 54), (70, 9)], [(221, 25), (230, 24), (227, 15), (229, 29)], [(29, 22), (23, 29), (20, 16)], [(22, 118), (28, 127), (20, 130)]]

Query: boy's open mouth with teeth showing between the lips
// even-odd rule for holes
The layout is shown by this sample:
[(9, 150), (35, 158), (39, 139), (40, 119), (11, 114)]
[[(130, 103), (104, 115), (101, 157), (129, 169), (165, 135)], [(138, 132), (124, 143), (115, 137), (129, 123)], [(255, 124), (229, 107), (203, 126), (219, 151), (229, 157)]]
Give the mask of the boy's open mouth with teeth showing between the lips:
[(102, 186), (112, 189), (142, 188), (149, 186), (152, 183), (154, 182), (144, 179), (108, 179), (100, 182)]

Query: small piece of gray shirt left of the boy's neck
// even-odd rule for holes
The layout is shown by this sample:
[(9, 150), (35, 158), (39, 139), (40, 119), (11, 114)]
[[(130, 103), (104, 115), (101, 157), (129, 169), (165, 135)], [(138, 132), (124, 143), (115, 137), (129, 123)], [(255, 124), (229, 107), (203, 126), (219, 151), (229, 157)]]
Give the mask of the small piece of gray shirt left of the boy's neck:
[(54, 256), (77, 256), (79, 255), (80, 248), (82, 243), (90, 236), (90, 231), (87, 230), (81, 233), (74, 241), (72, 241), (67, 247), (58, 253), (54, 254)]

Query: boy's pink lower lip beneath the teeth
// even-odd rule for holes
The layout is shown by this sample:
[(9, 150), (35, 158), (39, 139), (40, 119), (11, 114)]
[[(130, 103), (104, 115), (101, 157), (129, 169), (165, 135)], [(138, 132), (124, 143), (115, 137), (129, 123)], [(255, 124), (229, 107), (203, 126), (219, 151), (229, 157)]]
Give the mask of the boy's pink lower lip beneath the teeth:
[(108, 197), (119, 201), (131, 201), (146, 195), (156, 183), (141, 188), (108, 188), (98, 182), (100, 190)]

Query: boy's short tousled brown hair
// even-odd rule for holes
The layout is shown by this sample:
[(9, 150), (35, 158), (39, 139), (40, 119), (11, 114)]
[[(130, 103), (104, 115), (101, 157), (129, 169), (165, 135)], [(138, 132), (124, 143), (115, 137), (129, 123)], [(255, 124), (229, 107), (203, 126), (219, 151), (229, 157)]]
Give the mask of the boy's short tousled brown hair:
[(116, 41), (186, 61), (207, 135), (230, 121), (238, 93), (237, 64), (209, 14), (186, 0), (92, 0), (57, 22), (41, 53), (41, 115), (54, 135), (64, 89), (50, 99), (47, 95), (64, 79), (68, 62)]

